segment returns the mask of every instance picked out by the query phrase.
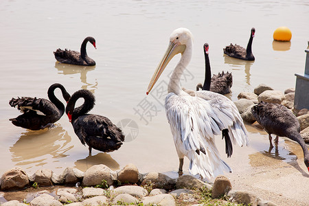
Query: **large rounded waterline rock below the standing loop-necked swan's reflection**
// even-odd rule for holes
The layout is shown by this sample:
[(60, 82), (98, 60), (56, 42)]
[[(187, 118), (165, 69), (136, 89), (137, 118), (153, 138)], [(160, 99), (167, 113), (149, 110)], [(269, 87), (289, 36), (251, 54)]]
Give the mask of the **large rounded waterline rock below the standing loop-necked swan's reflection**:
[(106, 165), (93, 165), (91, 168), (84, 172), (84, 179), (82, 179), (82, 185), (84, 186), (94, 186), (102, 184), (105, 180), (108, 185), (113, 184), (111, 179), (111, 169)]

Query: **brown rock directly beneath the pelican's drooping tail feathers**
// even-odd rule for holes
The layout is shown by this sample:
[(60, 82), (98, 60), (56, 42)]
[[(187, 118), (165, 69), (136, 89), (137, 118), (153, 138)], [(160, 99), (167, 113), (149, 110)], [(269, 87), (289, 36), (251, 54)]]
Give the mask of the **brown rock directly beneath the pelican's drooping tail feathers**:
[(199, 179), (196, 179), (194, 176), (191, 175), (182, 175), (176, 180), (176, 189), (194, 189), (200, 187), (207, 187), (207, 189), (210, 190), (212, 186), (204, 183)]

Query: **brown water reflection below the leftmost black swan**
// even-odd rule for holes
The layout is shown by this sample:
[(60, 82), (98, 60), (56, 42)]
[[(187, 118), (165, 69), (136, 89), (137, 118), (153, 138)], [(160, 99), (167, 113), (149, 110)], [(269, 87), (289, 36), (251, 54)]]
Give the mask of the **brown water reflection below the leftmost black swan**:
[(12, 161), (16, 162), (16, 165), (44, 165), (49, 163), (51, 157), (52, 159), (67, 157), (67, 151), (73, 148), (69, 146), (70, 142), (71, 137), (58, 124), (54, 128), (44, 130), (27, 130), (10, 147)]

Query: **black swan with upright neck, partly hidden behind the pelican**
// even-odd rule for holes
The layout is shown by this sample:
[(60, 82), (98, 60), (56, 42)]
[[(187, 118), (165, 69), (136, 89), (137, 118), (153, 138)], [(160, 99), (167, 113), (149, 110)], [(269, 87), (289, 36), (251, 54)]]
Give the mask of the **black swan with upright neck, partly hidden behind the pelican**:
[[(197, 84), (196, 91), (199, 89), (212, 91), (215, 93), (220, 93), (225, 95), (227, 93), (231, 93), (231, 87), (233, 84), (233, 76), (231, 73), (218, 73), (211, 78), (211, 69), (210, 69), (210, 62), (209, 62), (209, 45), (208, 43), (204, 44), (204, 56), (205, 56), (205, 81), (202, 85), (201, 83)], [(209, 84), (209, 82), (211, 82)]]

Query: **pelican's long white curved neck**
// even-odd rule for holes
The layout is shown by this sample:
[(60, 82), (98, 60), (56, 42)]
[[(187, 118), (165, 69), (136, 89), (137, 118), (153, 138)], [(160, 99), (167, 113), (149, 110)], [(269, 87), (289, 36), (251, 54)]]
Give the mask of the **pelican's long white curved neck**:
[(183, 71), (189, 64), (191, 57), (192, 57), (192, 51), (193, 51), (193, 42), (192, 39), (187, 41), (185, 45), (185, 51), (181, 55), (181, 59), (177, 63), (174, 71), (172, 72), (172, 75), (170, 76), (170, 82), (168, 82), (168, 93), (175, 93), (176, 95), (179, 95), (183, 90), (180, 86), (180, 80), (181, 76), (183, 75)]

